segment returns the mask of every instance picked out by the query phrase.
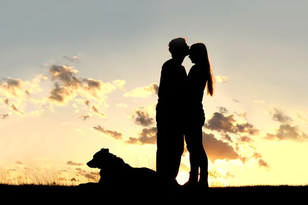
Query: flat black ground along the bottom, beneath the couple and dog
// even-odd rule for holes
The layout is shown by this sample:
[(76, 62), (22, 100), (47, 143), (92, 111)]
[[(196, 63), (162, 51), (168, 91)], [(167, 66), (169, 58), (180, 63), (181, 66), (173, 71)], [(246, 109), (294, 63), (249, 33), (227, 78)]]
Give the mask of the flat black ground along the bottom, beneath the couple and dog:
[[(274, 203), (274, 204), (304, 204), (308, 186), (250, 186), (250, 187), (220, 187), (209, 188), (207, 191), (174, 191), (171, 190), (101, 190), (81, 188), (78, 186), (44, 186), (44, 185), (0, 185), (2, 198), (14, 199), (14, 202), (55, 201), (55, 202), (161, 202), (172, 201), (186, 203), (198, 201), (202, 203)], [(109, 204), (109, 203), (108, 203)]]

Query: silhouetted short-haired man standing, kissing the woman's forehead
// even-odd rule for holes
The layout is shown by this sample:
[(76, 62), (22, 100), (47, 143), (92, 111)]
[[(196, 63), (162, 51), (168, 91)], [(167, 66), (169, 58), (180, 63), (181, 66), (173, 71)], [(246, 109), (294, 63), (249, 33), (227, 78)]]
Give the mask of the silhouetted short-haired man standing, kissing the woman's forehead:
[(164, 187), (178, 188), (176, 178), (184, 152), (183, 108), (187, 73), (182, 66), (189, 54), (186, 38), (175, 38), (169, 42), (171, 59), (161, 70), (156, 106), (157, 153), (156, 171)]

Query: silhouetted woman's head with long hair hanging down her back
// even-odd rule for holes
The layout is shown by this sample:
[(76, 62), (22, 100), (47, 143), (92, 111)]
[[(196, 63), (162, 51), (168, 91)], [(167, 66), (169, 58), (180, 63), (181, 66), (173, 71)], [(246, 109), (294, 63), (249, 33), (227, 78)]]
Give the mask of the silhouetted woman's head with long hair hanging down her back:
[(213, 96), (215, 78), (210, 68), (206, 46), (203, 43), (192, 44), (189, 49), (188, 57), (190, 58), (191, 63), (199, 66), (199, 69), (204, 69), (207, 94)]

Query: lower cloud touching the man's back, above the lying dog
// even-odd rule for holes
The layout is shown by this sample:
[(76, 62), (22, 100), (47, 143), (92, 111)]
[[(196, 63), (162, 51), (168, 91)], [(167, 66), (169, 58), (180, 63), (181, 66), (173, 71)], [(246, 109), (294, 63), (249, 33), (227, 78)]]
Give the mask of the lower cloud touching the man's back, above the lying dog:
[(138, 133), (138, 138), (129, 137), (126, 141), (127, 144), (137, 144), (137, 145), (156, 145), (157, 140), (157, 128), (143, 128), (140, 133)]

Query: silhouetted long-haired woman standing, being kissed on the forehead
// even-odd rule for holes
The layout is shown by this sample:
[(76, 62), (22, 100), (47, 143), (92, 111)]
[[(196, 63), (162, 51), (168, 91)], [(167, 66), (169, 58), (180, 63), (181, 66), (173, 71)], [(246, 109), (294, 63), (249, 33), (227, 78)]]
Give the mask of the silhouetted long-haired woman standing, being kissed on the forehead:
[(202, 99), (206, 85), (207, 94), (213, 96), (215, 78), (203, 43), (191, 45), (188, 57), (195, 65), (191, 67), (187, 76), (185, 141), (189, 152), (190, 172), (184, 187), (208, 188), (208, 161), (202, 142), (202, 127), (205, 121)]

